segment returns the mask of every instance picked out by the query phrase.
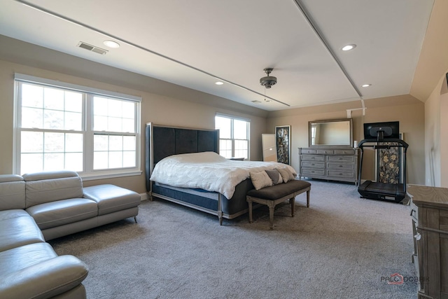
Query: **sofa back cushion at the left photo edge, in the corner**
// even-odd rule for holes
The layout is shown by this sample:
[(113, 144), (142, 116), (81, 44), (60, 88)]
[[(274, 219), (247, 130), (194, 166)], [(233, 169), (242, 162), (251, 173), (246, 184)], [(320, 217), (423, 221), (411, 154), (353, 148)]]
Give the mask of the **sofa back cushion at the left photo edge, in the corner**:
[(17, 174), (0, 175), (0, 211), (25, 209), (25, 181)]

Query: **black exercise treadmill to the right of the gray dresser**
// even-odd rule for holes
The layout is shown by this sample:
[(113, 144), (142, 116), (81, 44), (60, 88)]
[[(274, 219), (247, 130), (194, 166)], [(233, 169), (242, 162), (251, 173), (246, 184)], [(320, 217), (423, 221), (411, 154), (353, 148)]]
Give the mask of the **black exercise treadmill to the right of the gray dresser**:
[[(374, 137), (376, 135), (377, 138), (364, 139), (360, 141), (358, 145), (358, 148), (360, 148), (361, 150), (358, 172), (358, 192), (363, 198), (401, 202), (406, 196), (406, 151), (409, 145), (398, 137), (399, 133), (393, 133), (391, 127), (387, 126), (388, 124), (389, 123), (375, 123), (365, 124), (364, 126), (364, 137)], [(393, 125), (395, 125), (395, 122), (393, 123)], [(395, 130), (398, 130), (398, 124), (396, 125)], [(360, 183), (361, 172), (363, 169), (364, 148), (373, 148), (374, 150), (403, 148), (403, 169), (401, 169), (403, 174), (402, 183), (381, 183), (376, 181), (364, 181), (363, 183)]]

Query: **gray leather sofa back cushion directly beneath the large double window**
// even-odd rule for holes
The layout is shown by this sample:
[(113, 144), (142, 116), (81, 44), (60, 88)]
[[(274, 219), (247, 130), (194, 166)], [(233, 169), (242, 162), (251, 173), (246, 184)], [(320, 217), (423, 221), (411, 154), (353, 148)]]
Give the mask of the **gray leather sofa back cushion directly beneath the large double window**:
[(76, 172), (38, 172), (24, 174), (26, 207), (45, 202), (83, 197), (83, 181)]

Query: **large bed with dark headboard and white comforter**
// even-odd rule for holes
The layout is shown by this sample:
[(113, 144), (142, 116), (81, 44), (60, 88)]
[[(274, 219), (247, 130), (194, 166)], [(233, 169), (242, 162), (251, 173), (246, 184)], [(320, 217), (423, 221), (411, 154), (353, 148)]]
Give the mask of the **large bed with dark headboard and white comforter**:
[[(181, 163), (179, 161), (183, 161), (186, 158), (190, 159), (193, 157), (193, 160), (195, 160), (197, 157), (205, 156), (205, 159), (211, 159), (210, 162), (213, 165), (229, 164), (231, 168), (235, 167), (235, 169), (239, 169), (241, 166), (246, 168), (251, 163), (255, 163), (255, 168), (253, 169), (257, 170), (290, 167), (289, 165), (277, 162), (226, 160), (219, 156), (218, 153), (219, 130), (169, 127), (147, 123), (146, 190), (151, 200), (153, 197), (157, 197), (162, 200), (168, 200), (186, 207), (214, 214), (218, 216), (219, 223), (222, 225), (223, 218), (232, 219), (248, 211), (246, 193), (248, 190), (253, 189), (253, 184), (248, 175), (244, 176), (243, 179), (241, 179), (242, 176), (239, 178), (241, 181), (235, 183), (235, 186), (232, 187), (234, 190), (229, 191), (227, 189), (221, 189), (221, 187), (210, 189), (209, 185), (211, 183), (205, 183), (203, 186), (188, 185), (190, 179), (194, 179), (195, 176), (200, 176), (200, 174), (195, 174), (195, 167), (191, 167), (191, 165), (189, 168), (186, 165), (181, 167), (188, 169), (188, 172), (185, 174), (182, 174), (183, 170), (181, 168), (174, 169), (168, 181), (154, 177), (160, 169), (163, 169), (161, 165), (175, 167), (176, 164)], [(221, 158), (217, 158), (216, 156)], [(218, 162), (215, 163), (215, 159), (218, 159)], [(202, 169), (202, 167), (200, 168)], [(290, 167), (290, 169), (293, 168)], [(176, 177), (179, 178), (179, 182), (174, 181)]]

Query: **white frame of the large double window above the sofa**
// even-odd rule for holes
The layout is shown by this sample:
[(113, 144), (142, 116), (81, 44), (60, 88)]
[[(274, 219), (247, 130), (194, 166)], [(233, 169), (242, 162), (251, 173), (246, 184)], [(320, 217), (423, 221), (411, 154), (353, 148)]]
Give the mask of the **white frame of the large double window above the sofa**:
[[(120, 176), (136, 176), (141, 175), (141, 97), (133, 95), (125, 95), (119, 92), (111, 92), (108, 90), (100, 90), (98, 88), (90, 88), (83, 85), (76, 85), (71, 83), (65, 83), (62, 81), (54, 81), (47, 78), (39, 78), (36, 76), (29, 76), (25, 74), (14, 74), (14, 132), (13, 132), (13, 173), (20, 174), (21, 163), (21, 132), (48, 132), (48, 129), (34, 129), (25, 128), (22, 130), (21, 118), (22, 118), (22, 106), (20, 99), (20, 84), (29, 83), (40, 85), (42, 87), (57, 88), (73, 92), (83, 93), (83, 108), (82, 108), (82, 122), (83, 128), (80, 131), (75, 130), (56, 130), (57, 132), (72, 132), (83, 134), (83, 171), (78, 174), (84, 181), (95, 179), (107, 179)], [(92, 125), (94, 117), (93, 99), (94, 97), (106, 97), (108, 99), (118, 99), (122, 101), (132, 102), (135, 104), (134, 111), (134, 130), (135, 132), (106, 132), (106, 131), (94, 131)], [(136, 165), (135, 167), (119, 167), (110, 169), (94, 169), (93, 157), (94, 157), (94, 135), (95, 134), (107, 134), (109, 136), (135, 136), (136, 139)], [(65, 152), (64, 152), (65, 153)]]

